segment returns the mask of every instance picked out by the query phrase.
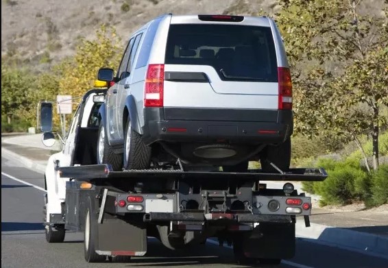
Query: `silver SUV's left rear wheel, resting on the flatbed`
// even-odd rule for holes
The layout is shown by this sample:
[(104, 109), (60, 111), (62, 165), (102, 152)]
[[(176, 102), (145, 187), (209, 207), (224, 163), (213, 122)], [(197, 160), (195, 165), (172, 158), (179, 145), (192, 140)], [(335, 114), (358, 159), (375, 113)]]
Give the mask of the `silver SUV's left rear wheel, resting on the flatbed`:
[(149, 169), (151, 163), (151, 147), (143, 143), (141, 134), (136, 133), (128, 118), (125, 128), (124, 169)]

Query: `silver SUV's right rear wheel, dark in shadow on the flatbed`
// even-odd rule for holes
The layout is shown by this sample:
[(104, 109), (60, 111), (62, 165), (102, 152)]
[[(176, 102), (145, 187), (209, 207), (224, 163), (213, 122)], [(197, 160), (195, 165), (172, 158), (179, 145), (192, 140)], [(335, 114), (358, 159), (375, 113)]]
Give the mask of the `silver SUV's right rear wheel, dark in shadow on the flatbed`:
[(267, 173), (279, 173), (269, 162), (282, 171), (289, 171), (291, 162), (291, 138), (278, 146), (268, 145), (260, 155), (261, 169)]

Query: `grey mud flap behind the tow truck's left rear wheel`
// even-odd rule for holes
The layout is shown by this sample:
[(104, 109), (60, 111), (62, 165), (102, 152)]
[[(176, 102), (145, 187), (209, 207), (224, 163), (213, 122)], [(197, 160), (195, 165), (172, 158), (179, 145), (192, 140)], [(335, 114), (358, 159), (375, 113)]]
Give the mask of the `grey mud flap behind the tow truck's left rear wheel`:
[(143, 256), (147, 252), (147, 232), (143, 223), (104, 219), (98, 224), (97, 254), (108, 256)]

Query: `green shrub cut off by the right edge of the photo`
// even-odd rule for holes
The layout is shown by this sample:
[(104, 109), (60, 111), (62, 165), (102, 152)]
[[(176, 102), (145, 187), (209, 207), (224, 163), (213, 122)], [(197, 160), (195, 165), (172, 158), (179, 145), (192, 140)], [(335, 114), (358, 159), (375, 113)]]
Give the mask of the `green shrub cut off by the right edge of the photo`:
[(388, 165), (380, 165), (380, 168), (372, 173), (371, 192), (375, 206), (388, 203)]

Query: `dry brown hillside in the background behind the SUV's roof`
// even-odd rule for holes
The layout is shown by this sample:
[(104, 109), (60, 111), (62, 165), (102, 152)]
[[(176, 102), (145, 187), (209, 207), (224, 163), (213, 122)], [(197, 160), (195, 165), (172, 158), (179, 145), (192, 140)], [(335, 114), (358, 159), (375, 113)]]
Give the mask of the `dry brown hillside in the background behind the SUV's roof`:
[(58, 62), (77, 40), (91, 38), (101, 23), (116, 27), (123, 40), (160, 14), (257, 14), (276, 0), (2, 0), (1, 55), (26, 64)]

